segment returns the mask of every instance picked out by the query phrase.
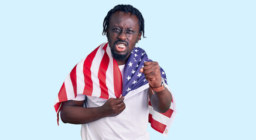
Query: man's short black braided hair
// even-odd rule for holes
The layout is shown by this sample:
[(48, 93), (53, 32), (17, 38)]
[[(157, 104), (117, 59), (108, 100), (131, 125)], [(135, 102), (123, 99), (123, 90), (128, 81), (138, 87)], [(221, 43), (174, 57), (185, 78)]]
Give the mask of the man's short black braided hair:
[(114, 12), (117, 12), (117, 11), (122, 11), (122, 12), (125, 12), (125, 13), (131, 13), (132, 15), (137, 16), (138, 19), (139, 19), (139, 32), (142, 32), (142, 35), (145, 38), (145, 36), (144, 36), (144, 32), (145, 32), (144, 31), (144, 18), (142, 16), (141, 12), (139, 12), (138, 9), (134, 8), (131, 5), (117, 5), (113, 9), (108, 11), (108, 14), (107, 14), (107, 16), (105, 17), (105, 19), (103, 21), (103, 35), (106, 34), (106, 31), (108, 29), (108, 23), (110, 21), (110, 18), (112, 16), (112, 14)]

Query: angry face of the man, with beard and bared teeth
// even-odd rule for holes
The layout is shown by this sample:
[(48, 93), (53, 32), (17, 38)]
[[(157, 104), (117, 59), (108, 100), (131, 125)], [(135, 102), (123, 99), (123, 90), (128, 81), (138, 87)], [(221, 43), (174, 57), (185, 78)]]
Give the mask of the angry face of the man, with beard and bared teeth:
[(136, 41), (141, 39), (138, 17), (121, 11), (113, 13), (108, 24), (107, 38), (115, 60), (125, 64)]

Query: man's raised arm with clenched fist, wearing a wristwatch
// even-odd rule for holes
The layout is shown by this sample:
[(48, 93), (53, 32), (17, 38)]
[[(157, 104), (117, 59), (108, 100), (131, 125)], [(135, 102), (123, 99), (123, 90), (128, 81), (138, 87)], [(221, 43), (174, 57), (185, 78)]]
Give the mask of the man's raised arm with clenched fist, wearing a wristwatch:
[[(144, 72), (146, 80), (153, 88), (161, 86), (161, 72), (158, 62), (145, 62), (141, 72)], [(155, 94), (149, 88), (149, 99), (154, 110), (165, 113), (170, 108), (172, 95), (167, 88), (161, 92), (155, 92)]]

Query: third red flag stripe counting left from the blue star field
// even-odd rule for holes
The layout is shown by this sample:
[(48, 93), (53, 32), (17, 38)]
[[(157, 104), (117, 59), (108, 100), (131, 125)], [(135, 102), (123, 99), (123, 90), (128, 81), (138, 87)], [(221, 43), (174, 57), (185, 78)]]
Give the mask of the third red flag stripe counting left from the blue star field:
[(84, 95), (91, 96), (93, 93), (93, 81), (91, 80), (91, 64), (93, 63), (93, 59), (98, 51), (98, 48), (95, 48), (93, 52), (91, 52), (87, 57), (86, 60), (84, 60)]

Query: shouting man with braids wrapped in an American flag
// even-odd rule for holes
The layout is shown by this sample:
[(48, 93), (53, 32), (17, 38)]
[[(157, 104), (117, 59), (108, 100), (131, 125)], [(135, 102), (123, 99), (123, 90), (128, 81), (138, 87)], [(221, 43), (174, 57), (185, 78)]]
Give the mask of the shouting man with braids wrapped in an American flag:
[(54, 106), (57, 113), (64, 123), (82, 124), (82, 139), (149, 139), (148, 121), (166, 135), (176, 108), (165, 72), (135, 47), (144, 36), (141, 12), (117, 5), (103, 27), (108, 43), (67, 76)]

